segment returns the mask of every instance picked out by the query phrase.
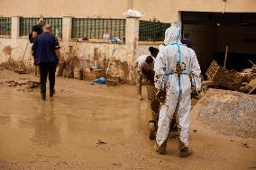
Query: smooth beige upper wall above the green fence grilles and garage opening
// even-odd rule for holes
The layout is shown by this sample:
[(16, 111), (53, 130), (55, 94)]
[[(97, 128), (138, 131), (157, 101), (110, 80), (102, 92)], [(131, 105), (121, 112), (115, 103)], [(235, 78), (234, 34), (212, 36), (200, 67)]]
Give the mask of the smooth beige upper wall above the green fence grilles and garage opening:
[[(123, 18), (127, 8), (142, 11), (144, 20), (178, 22), (180, 11), (222, 12), (222, 0), (0, 0), (0, 15)], [(256, 13), (256, 0), (226, 0), (225, 12)]]

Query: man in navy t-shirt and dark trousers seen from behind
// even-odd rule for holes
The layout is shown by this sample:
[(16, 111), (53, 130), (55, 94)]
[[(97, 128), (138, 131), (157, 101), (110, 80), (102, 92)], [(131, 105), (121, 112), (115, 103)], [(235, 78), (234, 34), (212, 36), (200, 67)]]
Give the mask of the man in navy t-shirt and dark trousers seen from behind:
[(41, 100), (46, 100), (47, 76), (50, 81), (50, 97), (55, 94), (55, 72), (59, 63), (59, 41), (51, 33), (51, 25), (46, 25), (43, 33), (39, 35), (33, 43), (33, 55), (36, 57), (36, 64), (40, 67)]

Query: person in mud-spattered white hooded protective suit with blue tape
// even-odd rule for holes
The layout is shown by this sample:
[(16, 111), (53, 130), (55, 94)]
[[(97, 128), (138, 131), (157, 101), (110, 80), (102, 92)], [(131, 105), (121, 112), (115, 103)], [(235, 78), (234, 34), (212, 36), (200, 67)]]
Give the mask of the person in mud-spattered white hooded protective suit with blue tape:
[(197, 95), (201, 89), (201, 70), (195, 51), (181, 44), (178, 24), (165, 31), (164, 43), (154, 64), (156, 98), (161, 102), (154, 148), (161, 155), (166, 153), (169, 122), (176, 112), (179, 157), (187, 157), (191, 153), (188, 148), (191, 95)]

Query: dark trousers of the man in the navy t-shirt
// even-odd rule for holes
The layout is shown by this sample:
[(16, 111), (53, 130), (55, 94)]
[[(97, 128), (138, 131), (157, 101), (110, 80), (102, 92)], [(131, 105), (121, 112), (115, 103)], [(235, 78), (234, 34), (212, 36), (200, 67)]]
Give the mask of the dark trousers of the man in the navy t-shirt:
[(55, 85), (55, 72), (57, 65), (55, 63), (41, 63), (40, 67), (40, 85), (41, 85), (41, 95), (46, 95), (46, 82), (47, 76), (49, 75), (50, 81), (50, 94), (54, 93)]

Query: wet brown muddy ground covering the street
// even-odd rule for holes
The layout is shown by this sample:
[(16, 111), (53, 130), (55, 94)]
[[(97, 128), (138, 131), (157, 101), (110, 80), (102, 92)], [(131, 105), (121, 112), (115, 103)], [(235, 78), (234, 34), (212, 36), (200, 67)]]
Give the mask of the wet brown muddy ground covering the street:
[[(19, 77), (33, 76), (0, 71), (0, 79)], [(196, 120), (200, 104), (190, 119), (194, 154), (179, 158), (177, 139), (169, 139), (168, 154), (157, 155), (135, 88), (58, 78), (55, 98), (41, 102), (39, 89), (0, 85), (0, 169), (256, 168), (256, 140), (209, 130)]]

